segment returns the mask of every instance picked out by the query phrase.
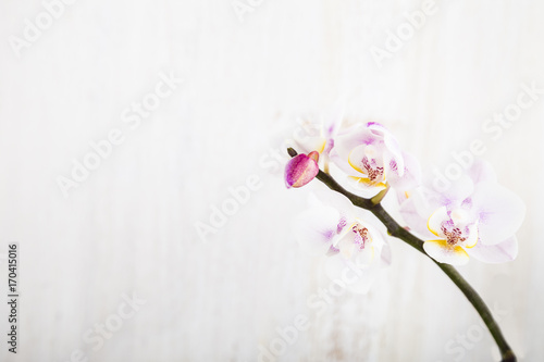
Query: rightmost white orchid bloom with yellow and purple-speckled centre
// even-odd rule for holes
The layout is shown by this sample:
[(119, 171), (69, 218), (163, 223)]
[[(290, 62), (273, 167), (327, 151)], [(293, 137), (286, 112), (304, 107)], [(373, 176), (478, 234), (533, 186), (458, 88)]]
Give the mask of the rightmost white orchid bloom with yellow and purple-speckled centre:
[(475, 161), (446, 192), (422, 188), (400, 207), (408, 226), (426, 240), (425, 252), (453, 265), (466, 264), (469, 255), (487, 263), (516, 259), (515, 233), (524, 212), (521, 199), (498, 185), (483, 161)]

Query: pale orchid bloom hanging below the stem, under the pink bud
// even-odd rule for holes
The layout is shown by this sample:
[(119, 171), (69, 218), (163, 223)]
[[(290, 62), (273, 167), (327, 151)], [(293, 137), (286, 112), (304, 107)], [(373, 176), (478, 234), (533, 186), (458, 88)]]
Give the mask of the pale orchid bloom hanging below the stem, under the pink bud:
[(310, 203), (312, 208), (294, 221), (301, 248), (327, 255), (325, 273), (332, 280), (354, 292), (367, 292), (379, 271), (391, 262), (383, 234), (360, 217), (364, 212), (356, 215), (351, 202), (339, 194), (312, 196)]

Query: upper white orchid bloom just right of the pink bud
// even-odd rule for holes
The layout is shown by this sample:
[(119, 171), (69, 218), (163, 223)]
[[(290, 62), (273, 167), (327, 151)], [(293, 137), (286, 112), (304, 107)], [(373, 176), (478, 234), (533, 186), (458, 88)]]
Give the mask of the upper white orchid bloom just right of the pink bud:
[(369, 196), (392, 186), (397, 197), (419, 184), (420, 167), (381, 124), (360, 124), (336, 138), (331, 160)]

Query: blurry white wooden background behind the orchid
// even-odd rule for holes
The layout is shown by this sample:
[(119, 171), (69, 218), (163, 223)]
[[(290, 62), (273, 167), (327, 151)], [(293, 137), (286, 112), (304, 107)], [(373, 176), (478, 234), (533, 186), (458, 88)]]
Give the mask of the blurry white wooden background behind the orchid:
[[(285, 190), (259, 160), (297, 116), (322, 114), (342, 96), (350, 118), (384, 123), (426, 171), (484, 140), (483, 158), (528, 215), (514, 263), (460, 271), (504, 311), (520, 360), (542, 361), (544, 99), (496, 141), (481, 127), (522, 84), (544, 87), (544, 3), (437, 0), (381, 68), (369, 49), (383, 48), (420, 1), (252, 3), (240, 22), (230, 0), (79, 0), (17, 58), (9, 37), (22, 37), (44, 5), (1, 1), (0, 254), (18, 242), (22, 298), (16, 355), (0, 303), (0, 360), (70, 361), (81, 349), (89, 361), (257, 361), (259, 345), (298, 314), (311, 327), (279, 361), (496, 359), (487, 333), (462, 358), (446, 351), (478, 329), (479, 316), (435, 265), (396, 240), (370, 295), (345, 294), (319, 316), (307, 305), (327, 282), (289, 230), (305, 191)], [(122, 111), (153, 90), (160, 72), (183, 85), (129, 129)], [(124, 142), (64, 198), (57, 176), (112, 128)], [(251, 174), (263, 186), (203, 244), (195, 223)], [(5, 260), (0, 269), (3, 295)], [(92, 350), (84, 334), (133, 292), (146, 303)]]

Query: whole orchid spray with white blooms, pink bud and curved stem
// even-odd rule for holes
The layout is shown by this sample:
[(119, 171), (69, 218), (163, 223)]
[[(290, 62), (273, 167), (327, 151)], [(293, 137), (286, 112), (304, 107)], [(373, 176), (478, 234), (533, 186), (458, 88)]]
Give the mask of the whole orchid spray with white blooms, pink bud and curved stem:
[[(391, 236), (436, 262), (482, 316), (503, 361), (515, 361), (482, 298), (448, 264), (466, 264), (470, 257), (489, 263), (514, 260), (518, 253), (515, 234), (524, 217), (523, 202), (499, 186), (491, 167), (480, 161), (445, 192), (421, 185), (416, 160), (403, 152), (393, 135), (378, 123), (341, 132), (335, 127), (321, 129), (325, 129), (321, 138), (307, 139), (310, 146), (301, 147), (307, 154), (287, 150), (294, 158), (285, 170), (288, 188), (304, 186), (319, 175), (333, 191), (313, 197), (313, 207), (293, 219), (302, 249), (326, 255), (325, 273), (333, 283), (364, 294), (391, 261), (383, 234), (370, 222), (380, 220)], [(319, 171), (320, 157), (325, 159), (323, 173)], [(350, 192), (334, 179), (337, 170), (329, 173), (329, 158), (360, 192)], [(390, 188), (395, 189), (400, 214), (409, 227), (403, 227), (384, 209), (382, 201)], [(363, 191), (367, 195), (360, 195)], [(350, 272), (356, 278), (348, 277)]]

